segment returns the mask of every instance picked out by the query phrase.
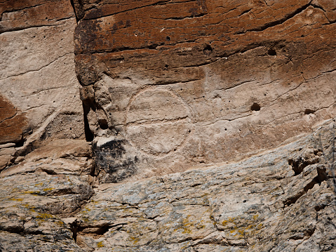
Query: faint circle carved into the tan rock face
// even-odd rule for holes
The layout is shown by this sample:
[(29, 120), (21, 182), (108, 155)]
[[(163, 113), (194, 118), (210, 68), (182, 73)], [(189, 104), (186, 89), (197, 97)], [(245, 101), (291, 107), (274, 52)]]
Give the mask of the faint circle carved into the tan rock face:
[(130, 100), (126, 113), (128, 140), (147, 154), (177, 150), (191, 131), (190, 111), (172, 91), (150, 88)]

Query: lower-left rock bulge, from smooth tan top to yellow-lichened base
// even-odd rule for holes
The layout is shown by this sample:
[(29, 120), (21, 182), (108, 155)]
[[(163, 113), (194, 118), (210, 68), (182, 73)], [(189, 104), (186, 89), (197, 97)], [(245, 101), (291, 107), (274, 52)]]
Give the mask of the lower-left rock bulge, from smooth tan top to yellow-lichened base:
[(0, 251), (83, 251), (67, 224), (94, 194), (90, 147), (64, 141), (0, 173)]

